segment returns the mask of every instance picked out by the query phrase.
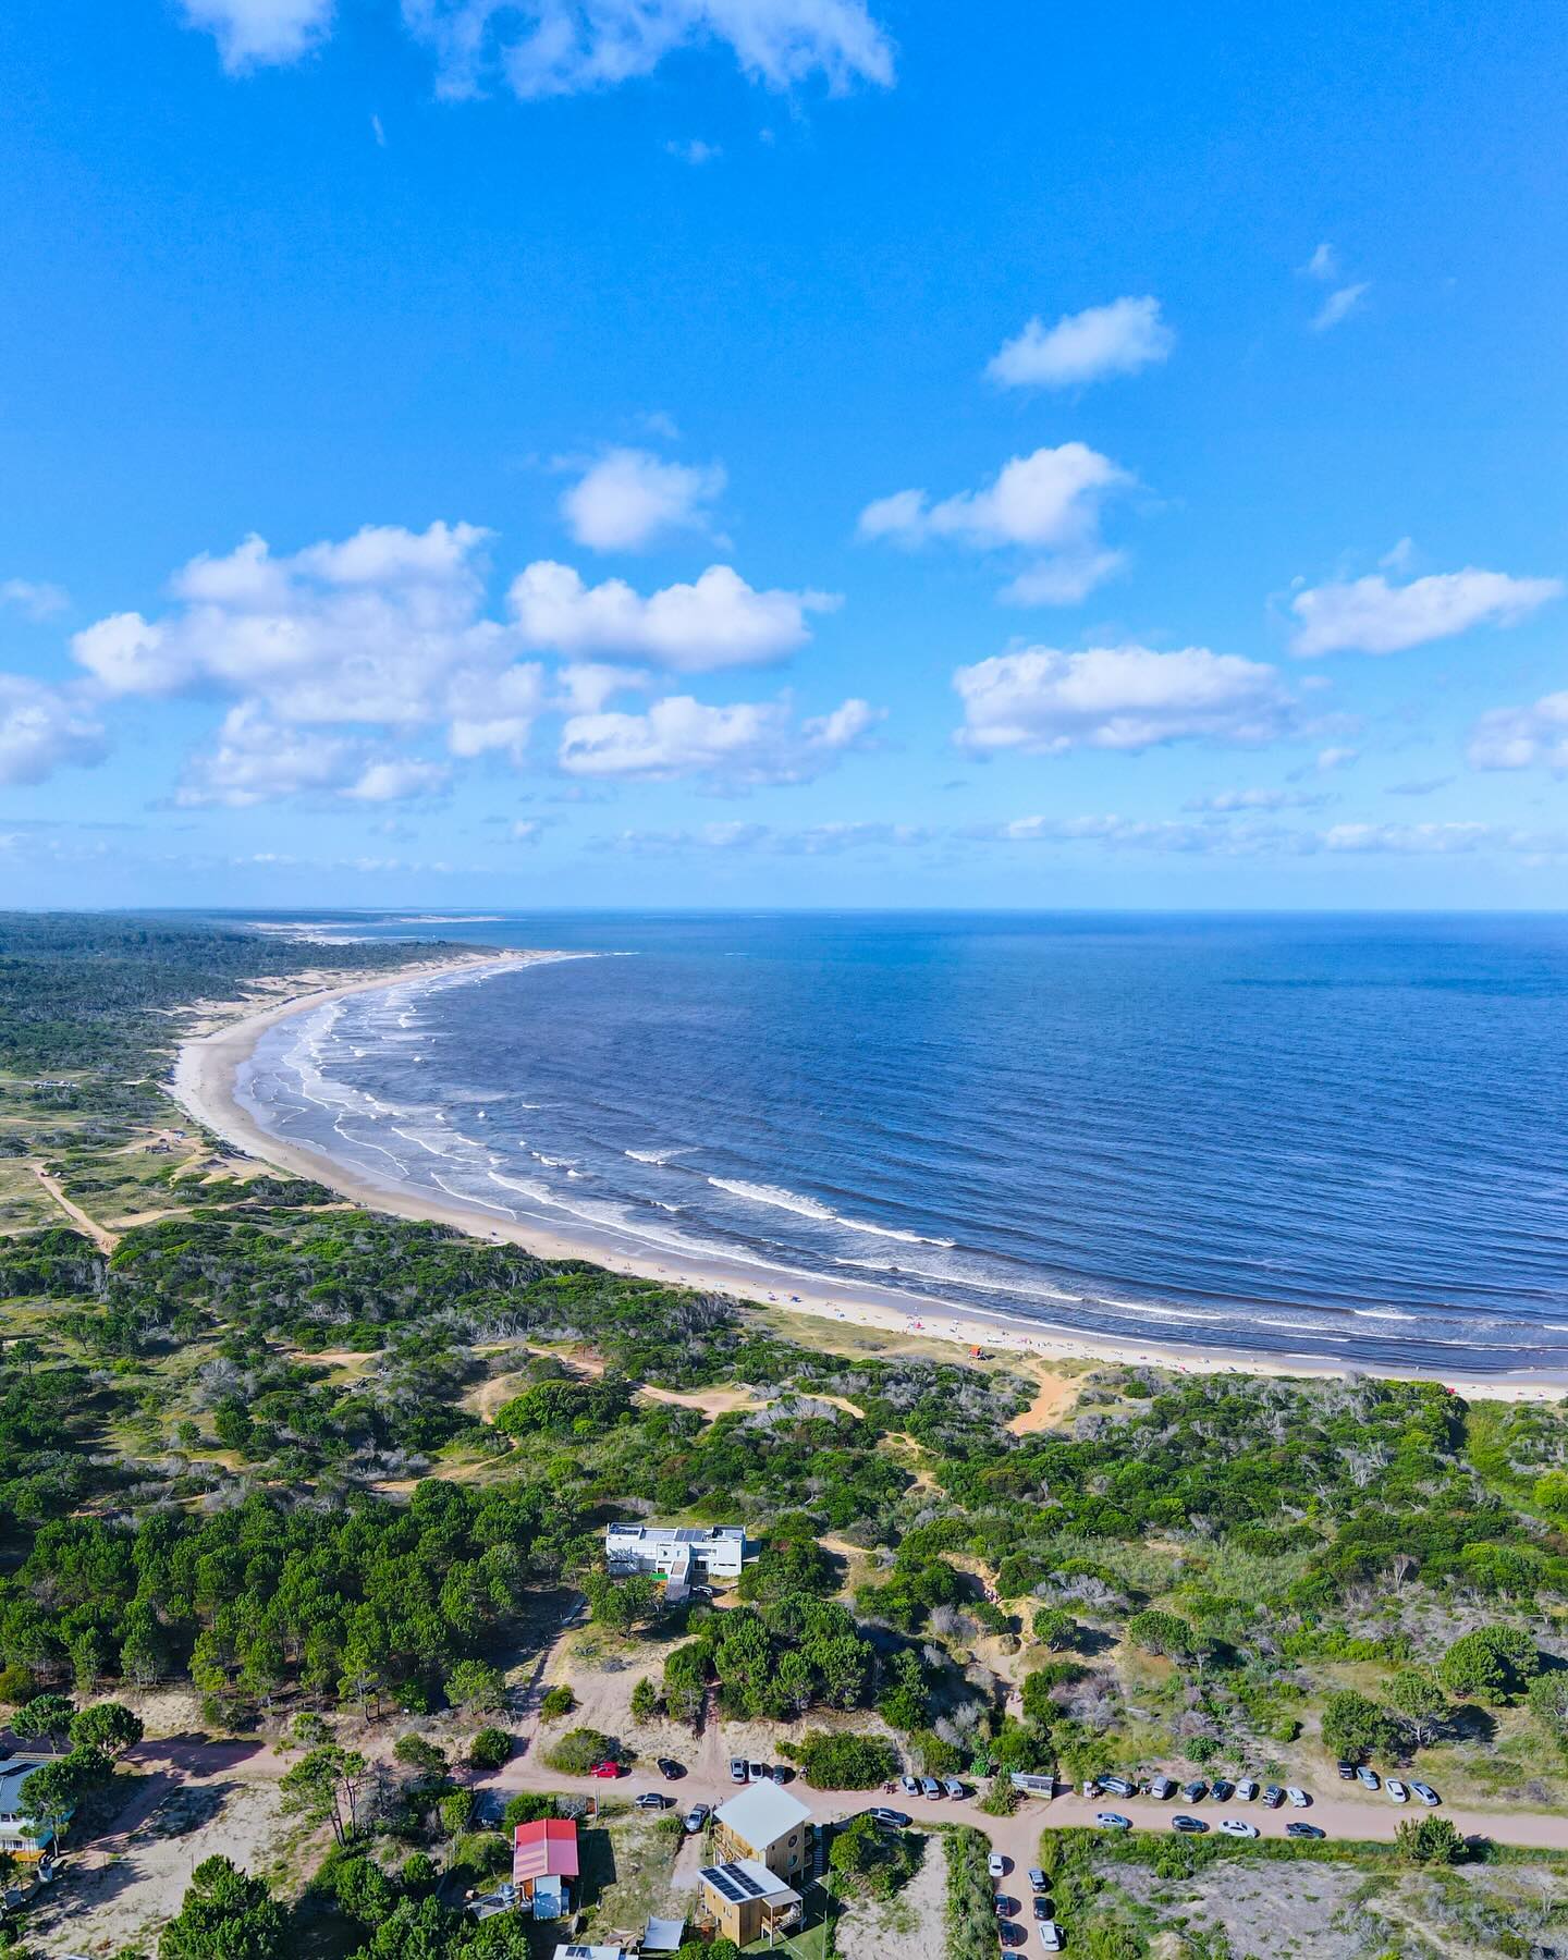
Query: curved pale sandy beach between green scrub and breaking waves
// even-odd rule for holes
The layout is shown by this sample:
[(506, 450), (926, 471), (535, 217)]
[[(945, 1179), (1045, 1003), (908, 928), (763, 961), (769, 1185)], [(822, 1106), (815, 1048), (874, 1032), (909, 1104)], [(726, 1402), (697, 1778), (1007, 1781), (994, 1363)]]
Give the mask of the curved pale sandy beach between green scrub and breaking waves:
[[(1172, 1347), (1158, 1341), (1115, 1341), (1111, 1337), (1074, 1337), (1007, 1313), (986, 1313), (976, 1307), (953, 1307), (933, 1296), (917, 1296), (878, 1288), (870, 1282), (837, 1280), (829, 1286), (819, 1274), (784, 1266), (751, 1268), (745, 1260), (678, 1258), (661, 1260), (657, 1250), (627, 1252), (610, 1235), (596, 1239), (588, 1231), (559, 1233), (549, 1225), (519, 1223), (506, 1211), (490, 1211), (480, 1201), (463, 1203), (435, 1192), (380, 1182), (367, 1172), (341, 1164), (325, 1151), (288, 1143), (265, 1129), (239, 1102), (237, 1078), (269, 1029), (296, 1013), (323, 1007), (349, 994), (367, 994), (404, 986), (410, 980), (433, 980), (443, 974), (484, 970), (506, 972), (555, 958), (549, 953), (470, 953), (453, 958), (412, 962), (398, 974), (378, 972), (367, 978), (331, 986), (308, 986), (296, 994), (280, 994), (276, 1002), (231, 1004), (235, 1013), (216, 1029), (186, 1035), (174, 1058), (167, 1088), (172, 1100), (204, 1129), (259, 1162), (274, 1164), (294, 1176), (325, 1184), (341, 1198), (367, 1211), (421, 1223), (451, 1225), (474, 1239), (502, 1239), (519, 1245), (539, 1258), (574, 1258), (604, 1266), (629, 1278), (645, 1278), (696, 1292), (717, 1292), (741, 1305), (760, 1311), (778, 1309), (802, 1313), (847, 1327), (866, 1327), (909, 1339), (943, 1341), (955, 1347), (1007, 1350), (1039, 1362), (1100, 1360), (1131, 1366), (1154, 1366), (1172, 1374), (1252, 1374), (1303, 1380), (1347, 1380), (1370, 1376), (1376, 1380), (1441, 1382), (1468, 1399), (1482, 1401), (1560, 1401), (1568, 1399), (1568, 1378), (1529, 1376), (1462, 1376), (1433, 1374), (1409, 1368), (1347, 1364), (1317, 1356), (1247, 1354), (1233, 1348)], [(223, 1009), (218, 1009), (223, 1011)]]

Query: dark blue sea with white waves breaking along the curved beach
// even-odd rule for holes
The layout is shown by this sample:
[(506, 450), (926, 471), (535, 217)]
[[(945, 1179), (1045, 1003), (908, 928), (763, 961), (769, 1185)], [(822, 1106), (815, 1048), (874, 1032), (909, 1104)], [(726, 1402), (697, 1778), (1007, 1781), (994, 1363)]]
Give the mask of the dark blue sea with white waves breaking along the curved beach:
[(282, 1023), (269, 1127), (759, 1286), (1568, 1368), (1568, 919), (343, 923), (416, 931), (594, 956)]

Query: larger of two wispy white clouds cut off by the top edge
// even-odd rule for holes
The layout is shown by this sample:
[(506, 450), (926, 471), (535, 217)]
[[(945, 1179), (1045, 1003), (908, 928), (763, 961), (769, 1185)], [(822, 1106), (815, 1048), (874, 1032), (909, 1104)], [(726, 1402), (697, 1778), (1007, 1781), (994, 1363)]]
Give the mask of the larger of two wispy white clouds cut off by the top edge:
[(837, 94), (894, 78), (864, 0), (402, 0), (402, 12), (435, 51), (447, 96), (472, 96), (492, 76), (523, 100), (613, 88), (702, 43), (729, 47), (768, 88), (821, 74)]

